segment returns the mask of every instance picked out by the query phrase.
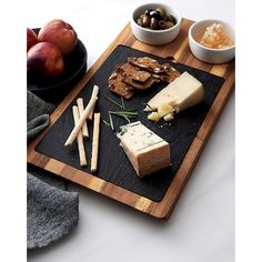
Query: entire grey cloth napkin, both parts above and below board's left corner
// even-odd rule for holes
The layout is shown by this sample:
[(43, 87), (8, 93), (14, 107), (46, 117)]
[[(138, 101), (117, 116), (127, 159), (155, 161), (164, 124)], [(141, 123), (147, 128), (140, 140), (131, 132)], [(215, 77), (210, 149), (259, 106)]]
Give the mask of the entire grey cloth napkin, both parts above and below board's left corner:
[[(27, 94), (28, 142), (49, 125), (54, 109), (33, 93)], [(67, 192), (66, 183), (47, 171), (28, 165), (27, 245), (43, 248), (66, 236), (79, 220), (79, 195)]]

